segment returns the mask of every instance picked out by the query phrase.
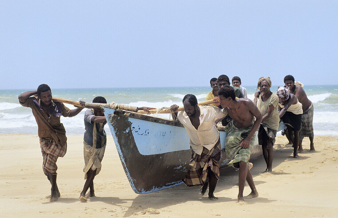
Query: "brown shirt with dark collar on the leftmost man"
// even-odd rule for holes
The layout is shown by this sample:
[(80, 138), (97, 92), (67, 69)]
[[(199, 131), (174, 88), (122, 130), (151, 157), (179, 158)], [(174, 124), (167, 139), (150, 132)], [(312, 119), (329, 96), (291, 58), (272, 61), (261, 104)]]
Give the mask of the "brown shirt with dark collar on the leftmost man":
[(65, 145), (67, 142), (66, 130), (60, 122), (60, 117), (69, 116), (70, 109), (63, 103), (52, 102), (47, 113), (40, 106), (40, 102), (35, 97), (30, 97), (25, 103), (19, 101), (24, 107), (32, 109), (35, 120), (38, 124), (38, 135), (40, 138), (53, 137), (57, 144)]

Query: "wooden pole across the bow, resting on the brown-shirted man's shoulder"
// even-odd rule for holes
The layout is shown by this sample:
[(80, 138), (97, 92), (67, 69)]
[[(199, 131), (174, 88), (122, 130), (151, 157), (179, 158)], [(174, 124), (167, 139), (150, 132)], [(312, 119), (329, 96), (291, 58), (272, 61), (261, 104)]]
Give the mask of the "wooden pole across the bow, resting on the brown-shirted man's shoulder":
[[(71, 104), (71, 105), (75, 105), (75, 106), (78, 106), (78, 107), (82, 107), (79, 102), (72, 101), (72, 100), (69, 100), (69, 99), (62, 99), (62, 98), (55, 98), (55, 97), (53, 97), (53, 101), (62, 102), (62, 103), (66, 103), (66, 104)], [(112, 109), (119, 108), (119, 109), (122, 109), (122, 110), (128, 110), (128, 111), (132, 111), (132, 112), (137, 112), (139, 110), (138, 107), (129, 106), (129, 105), (121, 105), (121, 104), (116, 104), (116, 103), (113, 103), (113, 102), (110, 103), (110, 104), (89, 103), (89, 102), (86, 102), (84, 104), (84, 107), (85, 108), (101, 108), (101, 107), (106, 107), (106, 108), (112, 108)]]

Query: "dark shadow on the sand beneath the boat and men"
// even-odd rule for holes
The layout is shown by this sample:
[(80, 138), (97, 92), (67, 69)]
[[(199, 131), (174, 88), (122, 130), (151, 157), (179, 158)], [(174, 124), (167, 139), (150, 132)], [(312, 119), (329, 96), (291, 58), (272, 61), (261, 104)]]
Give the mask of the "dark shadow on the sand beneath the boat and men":
[[(301, 161), (307, 159), (304, 153), (300, 154), (300, 159), (295, 159), (290, 154), (292, 154), (293, 148), (284, 147), (280, 150), (274, 151), (274, 160), (273, 160), (273, 168), (280, 165), (282, 162), (285, 161)], [(264, 181), (257, 181), (255, 177), (263, 173), (266, 169), (266, 163), (264, 161), (263, 156), (260, 156), (256, 159), (250, 160), (251, 163), (254, 164), (254, 167), (251, 169), (252, 176), (254, 177), (255, 185), (263, 184)], [(272, 172), (274, 175), (281, 175), (281, 174), (290, 174), (283, 171), (276, 171)], [(221, 190), (228, 190), (234, 186), (238, 186), (238, 171), (235, 171), (232, 167), (227, 167), (220, 170), (220, 180), (215, 190), (215, 196), (219, 199), (217, 202), (230, 202), (235, 201), (234, 199), (237, 196), (229, 196), (229, 197), (222, 197), (217, 196), (217, 193)], [(246, 185), (245, 190), (248, 189)], [(126, 211), (124, 217), (129, 217), (133, 215), (133, 213), (141, 212), (147, 208), (154, 208), (155, 210), (162, 209), (169, 207), (171, 205), (178, 205), (180, 203), (185, 203), (187, 201), (200, 201), (202, 203), (214, 203), (215, 201), (211, 201), (208, 199), (208, 192), (201, 196), (199, 195), (199, 186), (195, 187), (187, 187), (184, 184), (167, 188), (164, 190), (160, 190), (158, 192), (153, 192), (149, 194), (139, 194), (135, 199), (120, 199), (118, 197), (92, 197), (90, 201), (102, 201), (104, 203), (121, 206), (120, 204), (126, 203), (126, 201), (132, 201), (130, 207), (126, 207)], [(77, 200), (77, 199), (74, 199)], [(73, 199), (71, 201), (74, 201)], [(273, 202), (274, 200), (269, 200), (264, 197), (257, 197), (255, 200), (250, 200), (248, 204), (254, 203), (269, 203)], [(123, 206), (121, 206), (123, 207)]]

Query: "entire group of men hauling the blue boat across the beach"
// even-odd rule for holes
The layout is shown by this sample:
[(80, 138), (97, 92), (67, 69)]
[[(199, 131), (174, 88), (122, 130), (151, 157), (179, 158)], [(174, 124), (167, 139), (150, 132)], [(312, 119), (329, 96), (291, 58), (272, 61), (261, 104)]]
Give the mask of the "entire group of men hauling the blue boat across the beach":
[[(262, 144), (263, 156), (267, 164), (264, 172), (272, 172), (273, 151), (276, 132), (280, 118), (287, 126), (287, 136), (294, 146), (293, 157), (299, 158), (298, 152), (303, 152), (301, 140), (310, 138), (310, 150), (313, 146), (313, 105), (307, 98), (304, 89), (295, 85), (294, 78), (288, 75), (284, 78), (286, 86), (279, 87), (276, 94), (270, 91), (270, 78), (260, 78), (255, 93), (255, 103), (247, 99), (246, 89), (241, 87), (239, 77), (232, 79), (233, 87), (226, 75), (210, 80), (213, 88), (207, 95), (207, 100), (213, 100), (212, 105), (198, 106), (193, 94), (183, 98), (184, 111), (177, 112), (177, 105), (172, 105), (173, 118), (185, 127), (192, 148), (191, 169), (183, 182), (188, 186), (202, 186), (200, 194), (204, 195), (209, 186), (209, 199), (217, 200), (214, 190), (219, 180), (219, 165), (221, 158), (221, 144), (217, 123), (225, 126), (227, 137), (225, 139), (225, 152), (231, 158), (228, 163), (239, 170), (238, 202), (245, 202), (244, 198), (258, 196), (249, 163), (250, 153), (255, 141), (255, 132), (259, 129), (259, 144)], [(290, 93), (291, 92), (291, 93)], [(63, 103), (53, 102), (51, 89), (41, 84), (35, 91), (27, 91), (19, 95), (22, 106), (30, 107), (38, 124), (41, 152), (43, 156), (43, 171), (51, 183), (50, 201), (60, 196), (56, 184), (56, 161), (63, 157), (67, 151), (67, 137), (62, 116), (75, 116), (85, 105), (79, 101), (80, 106), (70, 110)], [(258, 101), (258, 107), (256, 103)], [(103, 97), (95, 97), (93, 103), (106, 104)], [(277, 108), (278, 104), (278, 108)], [(149, 107), (140, 107), (140, 110), (149, 112)], [(279, 112), (278, 112), (279, 109)], [(302, 117), (303, 114), (303, 117)], [(255, 119), (254, 119), (255, 117)], [(86, 182), (80, 193), (79, 200), (87, 201), (94, 196), (93, 180), (101, 169), (101, 161), (106, 146), (106, 133), (104, 125), (106, 119), (100, 109), (88, 109), (84, 114), (85, 133), (83, 137), (83, 154)], [(300, 136), (299, 136), (300, 131)], [(243, 196), (245, 181), (251, 193)], [(86, 194), (87, 190), (90, 191)]]

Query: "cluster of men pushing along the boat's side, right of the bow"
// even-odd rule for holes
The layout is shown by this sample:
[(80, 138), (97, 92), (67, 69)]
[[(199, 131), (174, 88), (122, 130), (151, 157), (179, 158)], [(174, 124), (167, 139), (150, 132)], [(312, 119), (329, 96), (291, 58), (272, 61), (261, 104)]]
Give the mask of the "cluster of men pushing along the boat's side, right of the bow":
[[(239, 77), (232, 79), (233, 87), (231, 87), (229, 78), (220, 75), (217, 79), (210, 80), (213, 90), (206, 97), (207, 100), (214, 100), (213, 105), (198, 106), (197, 99), (192, 94), (187, 94), (183, 98), (184, 111), (177, 113), (178, 106), (172, 105), (170, 109), (174, 112), (173, 117), (185, 127), (192, 149), (191, 169), (183, 182), (188, 186), (202, 186), (201, 195), (204, 195), (209, 185), (209, 199), (218, 199), (213, 192), (219, 180), (221, 145), (216, 128), (219, 121), (225, 126), (224, 130), (227, 132), (225, 152), (231, 159), (228, 165), (239, 170), (238, 202), (245, 202), (244, 198), (258, 196), (250, 172), (252, 163), (249, 163), (257, 130), (259, 130), (258, 141), (262, 145), (267, 165), (264, 172), (272, 172), (272, 147), (280, 120), (283, 120), (287, 127), (288, 138), (292, 138), (294, 158), (299, 158), (298, 152), (303, 152), (301, 141), (304, 137), (310, 138), (310, 151), (314, 151), (313, 105), (304, 89), (294, 82), (293, 76), (286, 76), (285, 86), (279, 87), (275, 94), (270, 91), (272, 84), (270, 78), (259, 78), (257, 84), (259, 91), (255, 93), (254, 103), (245, 97), (246, 89), (240, 87)], [(305, 103), (304, 106), (301, 102)], [(299, 136), (301, 129), (303, 131)], [(247, 196), (243, 196), (245, 181), (251, 189)]]

